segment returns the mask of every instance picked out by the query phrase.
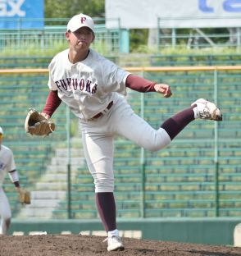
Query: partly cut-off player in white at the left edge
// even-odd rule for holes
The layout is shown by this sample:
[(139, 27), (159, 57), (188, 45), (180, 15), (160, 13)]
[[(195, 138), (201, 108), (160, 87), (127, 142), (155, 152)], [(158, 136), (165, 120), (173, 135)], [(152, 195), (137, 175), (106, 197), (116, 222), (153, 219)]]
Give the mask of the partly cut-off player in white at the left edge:
[(11, 208), (7, 199), (7, 196), (2, 189), (2, 184), (5, 178), (6, 173), (8, 173), (11, 182), (15, 185), (16, 191), (20, 195), (21, 203), (30, 203), (22, 201), (22, 197), (25, 196), (26, 191), (20, 188), (20, 181), (18, 172), (16, 171), (16, 165), (14, 161), (13, 153), (11, 149), (2, 145), (3, 139), (3, 130), (0, 127), (0, 217), (1, 217), (1, 226), (0, 226), (0, 235), (7, 234), (7, 231), (11, 223)]

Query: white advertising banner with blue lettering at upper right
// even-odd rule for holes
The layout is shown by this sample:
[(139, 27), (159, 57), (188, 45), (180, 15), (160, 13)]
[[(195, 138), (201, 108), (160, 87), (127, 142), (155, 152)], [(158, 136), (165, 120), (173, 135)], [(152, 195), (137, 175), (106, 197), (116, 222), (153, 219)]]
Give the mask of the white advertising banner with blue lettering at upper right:
[(106, 18), (108, 28), (241, 27), (241, 0), (106, 0)]

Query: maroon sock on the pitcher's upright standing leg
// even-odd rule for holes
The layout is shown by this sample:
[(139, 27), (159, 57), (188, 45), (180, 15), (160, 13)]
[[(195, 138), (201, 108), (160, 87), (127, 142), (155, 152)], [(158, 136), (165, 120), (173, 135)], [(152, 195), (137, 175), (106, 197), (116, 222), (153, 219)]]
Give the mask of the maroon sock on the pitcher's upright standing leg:
[(95, 194), (98, 214), (101, 217), (102, 224), (106, 231), (116, 229), (116, 202), (114, 194), (111, 192), (102, 192)]

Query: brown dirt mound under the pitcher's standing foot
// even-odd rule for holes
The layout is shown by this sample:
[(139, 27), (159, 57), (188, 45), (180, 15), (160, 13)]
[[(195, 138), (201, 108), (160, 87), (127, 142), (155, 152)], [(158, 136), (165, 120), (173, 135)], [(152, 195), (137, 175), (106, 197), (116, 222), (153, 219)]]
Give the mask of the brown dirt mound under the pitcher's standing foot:
[(0, 256), (241, 256), (241, 248), (122, 238), (125, 250), (107, 252), (93, 235), (2, 235)]

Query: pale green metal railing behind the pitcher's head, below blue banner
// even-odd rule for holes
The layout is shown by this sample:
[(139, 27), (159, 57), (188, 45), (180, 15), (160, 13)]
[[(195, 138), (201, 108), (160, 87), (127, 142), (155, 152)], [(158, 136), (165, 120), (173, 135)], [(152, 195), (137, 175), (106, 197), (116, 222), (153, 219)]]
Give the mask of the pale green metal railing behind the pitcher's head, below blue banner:
[[(66, 24), (69, 19), (43, 19), (43, 27), (25, 29), (22, 27), (22, 19), (4, 20), (5, 22), (16, 22), (17, 29), (0, 30), (0, 52), (16, 51), (25, 49), (25, 54), (31, 49), (38, 48), (41, 53), (44, 49), (52, 49), (66, 45)], [(26, 21), (26, 19), (25, 19)], [(93, 18), (95, 22), (96, 39), (93, 48), (100, 49), (101, 53), (120, 53), (120, 26), (108, 30), (105, 27), (105, 19)], [(31, 22), (39, 22), (39, 19), (31, 19)], [(117, 23), (118, 24), (118, 20)]]

